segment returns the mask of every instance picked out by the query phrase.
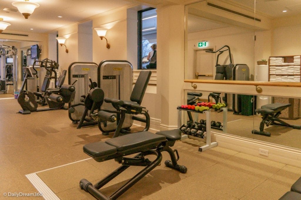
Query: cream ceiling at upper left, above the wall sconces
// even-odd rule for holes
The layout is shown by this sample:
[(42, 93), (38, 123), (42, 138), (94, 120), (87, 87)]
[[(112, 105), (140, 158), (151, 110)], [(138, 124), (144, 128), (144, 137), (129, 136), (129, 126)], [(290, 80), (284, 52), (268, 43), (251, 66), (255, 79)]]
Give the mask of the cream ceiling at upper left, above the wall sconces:
[(0, 17), (4, 19), (3, 21), (11, 23), (6, 30), (35, 33), (48, 33), (96, 14), (130, 6), (134, 2), (131, 0), (30, 0), (38, 3), (40, 7), (25, 19), (19, 11), (3, 10), (4, 8), (17, 10), (11, 5), (16, 1), (23, 0), (0, 0)]

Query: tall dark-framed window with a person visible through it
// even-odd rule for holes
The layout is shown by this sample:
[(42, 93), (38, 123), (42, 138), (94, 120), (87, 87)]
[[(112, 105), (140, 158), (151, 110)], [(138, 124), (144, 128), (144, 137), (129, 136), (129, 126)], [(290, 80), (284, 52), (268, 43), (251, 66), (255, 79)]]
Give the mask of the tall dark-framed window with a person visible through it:
[(138, 11), (138, 69), (149, 67), (147, 56), (153, 44), (157, 44), (157, 9), (147, 8)]

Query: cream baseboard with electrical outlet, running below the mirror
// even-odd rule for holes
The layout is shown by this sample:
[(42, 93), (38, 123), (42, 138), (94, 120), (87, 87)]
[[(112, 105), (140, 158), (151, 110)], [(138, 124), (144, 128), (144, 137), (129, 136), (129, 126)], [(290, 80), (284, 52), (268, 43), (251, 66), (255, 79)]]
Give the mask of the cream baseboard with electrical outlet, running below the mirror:
[[(243, 152), (260, 158), (301, 167), (301, 150), (254, 139), (212, 131), (212, 141), (218, 146)], [(259, 148), (268, 151), (268, 156), (259, 154)]]

